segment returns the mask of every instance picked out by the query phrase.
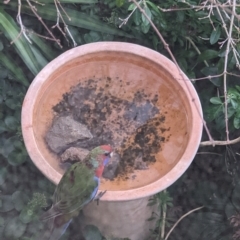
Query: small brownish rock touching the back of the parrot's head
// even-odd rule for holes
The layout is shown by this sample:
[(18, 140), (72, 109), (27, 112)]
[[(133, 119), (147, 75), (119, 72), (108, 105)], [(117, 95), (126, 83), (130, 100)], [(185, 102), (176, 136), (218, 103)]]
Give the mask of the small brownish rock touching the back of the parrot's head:
[(83, 159), (88, 155), (89, 150), (84, 148), (70, 147), (61, 156), (62, 162), (70, 161), (83, 161)]

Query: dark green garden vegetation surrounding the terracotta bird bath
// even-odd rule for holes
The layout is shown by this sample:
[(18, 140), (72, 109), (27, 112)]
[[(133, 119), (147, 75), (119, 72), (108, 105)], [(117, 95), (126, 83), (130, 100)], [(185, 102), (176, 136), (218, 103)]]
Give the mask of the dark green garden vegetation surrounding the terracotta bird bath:
[[(220, 49), (219, 42), (227, 36), (216, 9), (211, 15), (211, 24), (209, 18), (199, 19), (208, 15), (208, 9), (195, 11), (189, 8), (190, 5), (199, 5), (201, 1), (189, 1), (190, 5), (177, 0), (162, 1), (163, 9), (189, 8), (169, 12), (160, 11), (157, 0), (143, 2), (145, 12), (162, 33), (189, 78), (223, 72), (226, 44)], [(51, 29), (57, 19), (54, 3), (50, 0), (41, 3), (44, 6), (32, 2)], [(119, 28), (122, 23), (119, 18), (125, 19), (134, 8), (128, 1), (65, 0), (62, 5), (71, 17), (71, 21), (66, 16), (64, 19), (78, 45), (97, 41), (131, 42), (152, 48), (170, 58), (139, 10)], [(17, 13), (17, 1), (0, 3), (0, 238), (29, 240), (35, 239), (35, 233), (41, 229), (37, 215), (40, 208), (49, 206), (54, 186), (32, 164), (25, 150), (20, 125), (21, 105), (34, 76), (49, 61), (72, 48), (73, 41), (69, 35), (63, 36), (57, 28), (51, 31), (60, 39), (62, 48), (54, 41), (39, 37), (50, 36), (24, 0), (21, 19), (32, 44), (23, 34), (16, 39), (20, 32)], [(229, 19), (225, 17), (224, 21), (228, 27)], [(239, 27), (237, 21), (235, 24)], [(60, 26), (63, 27), (63, 24), (60, 23)], [(234, 28), (232, 37), (238, 39), (238, 34), (238, 29)], [(13, 40), (14, 43), (10, 44)], [(239, 52), (238, 40), (235, 43)], [(230, 51), (228, 72), (240, 74), (236, 64), (233, 51)], [(225, 140), (223, 78), (193, 81), (193, 85), (201, 99), (204, 117), (213, 138)], [(227, 86), (230, 138), (234, 139), (240, 135), (239, 77), (228, 75)], [(203, 140), (208, 140), (205, 132)], [(167, 212), (167, 232), (181, 216), (200, 206), (204, 208), (184, 218), (169, 239), (240, 239), (239, 143), (201, 147), (199, 152), (202, 153), (196, 155), (186, 173), (167, 192), (155, 196), (153, 203), (159, 204), (159, 214), (155, 215), (158, 222), (152, 231), (152, 239), (160, 239), (162, 211)], [(78, 233), (78, 221), (74, 220), (62, 239), (82, 238)], [(98, 240), (102, 236), (97, 229), (90, 227), (86, 230), (85, 239)]]

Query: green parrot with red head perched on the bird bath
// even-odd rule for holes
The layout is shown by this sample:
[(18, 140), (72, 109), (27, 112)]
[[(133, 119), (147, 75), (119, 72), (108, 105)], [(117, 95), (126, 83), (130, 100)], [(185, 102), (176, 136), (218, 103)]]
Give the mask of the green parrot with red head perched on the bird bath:
[(51, 209), (41, 216), (41, 220), (46, 221), (46, 229), (38, 239), (58, 240), (72, 218), (95, 198), (111, 153), (112, 147), (109, 145), (96, 147), (82, 162), (74, 163), (65, 172), (53, 194)]

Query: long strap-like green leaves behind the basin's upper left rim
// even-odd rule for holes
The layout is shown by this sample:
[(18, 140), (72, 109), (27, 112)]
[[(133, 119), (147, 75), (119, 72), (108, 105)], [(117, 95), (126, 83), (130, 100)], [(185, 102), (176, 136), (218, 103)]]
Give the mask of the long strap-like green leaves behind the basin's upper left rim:
[[(54, 4), (52, 3), (52, 1), (45, 0), (44, 2), (45, 4), (43, 6), (41, 4), (37, 5), (38, 14), (44, 20), (56, 21), (57, 12)], [(65, 2), (68, 1), (65, 0)], [(90, 11), (93, 11), (93, 9), (98, 9), (95, 6), (95, 4), (97, 3), (97, 1), (95, 0), (87, 2), (84, 0), (75, 0), (74, 2), (88, 3), (88, 6), (90, 6), (88, 10)], [(23, 2), (21, 7), (21, 14), (23, 15), (23, 20), (25, 20), (24, 14), (30, 14), (35, 16), (32, 10), (29, 9), (29, 6), (26, 4), (26, 2)], [(0, 36), (0, 38), (3, 38), (4, 42), (6, 42), (4, 39), (4, 37), (6, 37), (8, 39), (8, 42), (13, 42), (13, 47), (11, 47), (10, 49), (12, 50), (14, 48), (19, 57), (26, 64), (28, 69), (32, 72), (32, 74), (36, 75), (49, 61), (59, 55), (62, 50), (60, 50), (59, 47), (56, 47), (53, 44), (51, 44), (52, 46), (50, 47), (49, 42), (47, 42), (44, 38), (41, 38), (38, 35), (34, 34), (34, 31), (32, 30), (26, 32), (29, 42), (23, 34), (18, 36), (20, 28), (15, 22), (15, 17), (8, 13), (8, 9), (10, 9), (11, 11), (15, 11), (17, 14), (17, 3), (0, 3), (0, 30), (3, 32), (3, 36)], [(67, 14), (71, 16), (71, 19), (66, 18), (65, 21), (66, 24), (70, 26), (70, 32), (72, 33), (73, 38), (76, 39), (76, 42), (78, 44), (94, 41), (110, 41), (113, 39), (113, 35), (132, 38), (132, 35), (112, 26), (109, 26), (104, 22), (101, 22), (99, 17), (92, 15), (93, 13), (89, 15), (88, 11), (85, 11), (84, 13), (80, 12), (79, 10), (75, 10), (72, 7), (64, 7), (64, 9)], [(60, 21), (62, 21), (61, 18)], [(26, 24), (25, 21), (24, 24)], [(29, 29), (42, 28), (41, 23), (36, 18), (33, 19), (33, 21), (27, 22), (27, 25), (29, 25)], [(52, 25), (48, 26), (49, 29), (51, 28), (51, 26)], [(86, 32), (86, 30), (88, 31)], [(38, 32), (38, 34), (44, 36), (46, 33)], [(82, 37), (83, 35), (84, 37)], [(64, 46), (64, 48), (69, 48), (69, 41), (67, 35), (65, 40), (67, 40), (67, 42), (64, 42), (63, 40), (62, 43), (64, 45), (66, 45), (67, 43), (68, 46)], [(9, 47), (6, 47), (4, 42), (0, 39), (0, 63), (4, 67), (9, 69), (9, 71), (11, 71), (11, 74), (14, 75), (14, 77), (18, 81), (23, 83), (25, 86), (28, 86), (26, 76), (24, 75), (22, 69), (18, 67), (16, 61), (13, 60), (11, 55), (8, 53)]]

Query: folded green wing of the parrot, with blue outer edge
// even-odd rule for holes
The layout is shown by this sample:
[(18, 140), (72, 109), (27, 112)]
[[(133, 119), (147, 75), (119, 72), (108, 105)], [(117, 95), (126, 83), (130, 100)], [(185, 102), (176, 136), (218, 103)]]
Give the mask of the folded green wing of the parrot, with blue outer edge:
[(73, 164), (62, 177), (53, 195), (54, 207), (61, 214), (80, 210), (97, 193), (99, 181), (83, 163)]

